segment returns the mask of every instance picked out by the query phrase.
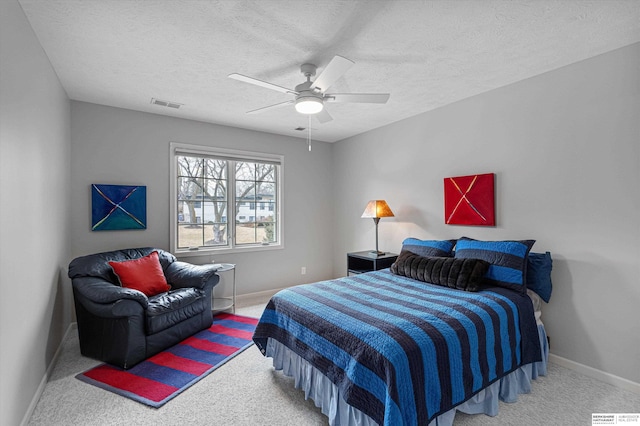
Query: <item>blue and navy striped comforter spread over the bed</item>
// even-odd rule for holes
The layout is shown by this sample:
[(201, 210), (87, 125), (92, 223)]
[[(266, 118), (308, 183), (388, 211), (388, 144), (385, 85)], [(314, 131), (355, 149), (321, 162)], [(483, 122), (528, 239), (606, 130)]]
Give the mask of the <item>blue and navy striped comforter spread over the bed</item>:
[(282, 290), (253, 340), (276, 339), (384, 425), (426, 425), (522, 365), (540, 361), (531, 300), (370, 272)]

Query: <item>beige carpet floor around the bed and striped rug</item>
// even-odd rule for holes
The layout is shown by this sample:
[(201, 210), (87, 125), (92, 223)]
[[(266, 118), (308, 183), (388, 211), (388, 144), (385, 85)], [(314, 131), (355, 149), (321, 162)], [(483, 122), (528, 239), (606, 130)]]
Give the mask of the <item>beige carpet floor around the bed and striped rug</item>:
[[(255, 302), (253, 302), (255, 303)], [(237, 313), (259, 318), (264, 303)], [(253, 346), (159, 409), (81, 382), (75, 375), (98, 361), (80, 355), (77, 332), (66, 336), (50, 381), (29, 425), (272, 425), (328, 424), (293, 380), (274, 371)], [(500, 403), (496, 417), (458, 413), (462, 425), (591, 425), (596, 412), (640, 412), (640, 395), (549, 364), (518, 403)]]

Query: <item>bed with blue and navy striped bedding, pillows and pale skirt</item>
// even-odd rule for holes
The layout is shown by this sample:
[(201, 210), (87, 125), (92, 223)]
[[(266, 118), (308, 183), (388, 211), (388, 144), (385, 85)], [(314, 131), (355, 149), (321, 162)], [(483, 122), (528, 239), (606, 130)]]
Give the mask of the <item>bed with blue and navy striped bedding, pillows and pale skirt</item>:
[(429, 247), (436, 242), (407, 239), (390, 269), (278, 292), (256, 346), (332, 425), (442, 426), (456, 411), (497, 415), (499, 399), (515, 402), (546, 374), (540, 297), (525, 285), (533, 242), (516, 287), (518, 274), (507, 269), (518, 256), (505, 259), (495, 245), (479, 253), (470, 239), (465, 253), (460, 241), (438, 252)]

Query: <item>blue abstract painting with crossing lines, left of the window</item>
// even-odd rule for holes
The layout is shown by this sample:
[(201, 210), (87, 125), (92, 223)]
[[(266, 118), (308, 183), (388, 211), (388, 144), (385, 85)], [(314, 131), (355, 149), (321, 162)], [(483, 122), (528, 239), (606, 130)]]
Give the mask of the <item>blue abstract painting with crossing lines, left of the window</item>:
[(147, 229), (147, 187), (91, 185), (91, 230)]

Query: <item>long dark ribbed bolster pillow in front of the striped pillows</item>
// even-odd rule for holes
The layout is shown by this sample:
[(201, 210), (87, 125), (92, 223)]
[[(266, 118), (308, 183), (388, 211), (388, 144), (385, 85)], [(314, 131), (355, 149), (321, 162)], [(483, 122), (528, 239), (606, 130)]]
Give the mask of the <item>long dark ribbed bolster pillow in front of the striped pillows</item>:
[(489, 266), (481, 259), (423, 257), (403, 250), (391, 265), (391, 272), (443, 287), (478, 291)]

